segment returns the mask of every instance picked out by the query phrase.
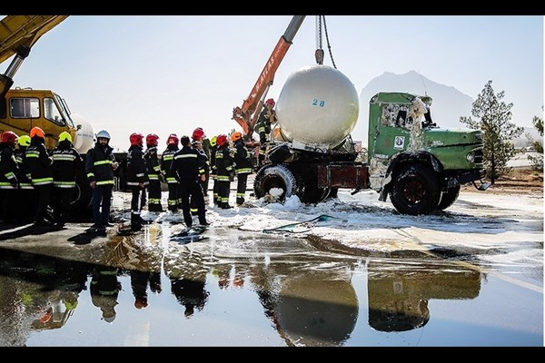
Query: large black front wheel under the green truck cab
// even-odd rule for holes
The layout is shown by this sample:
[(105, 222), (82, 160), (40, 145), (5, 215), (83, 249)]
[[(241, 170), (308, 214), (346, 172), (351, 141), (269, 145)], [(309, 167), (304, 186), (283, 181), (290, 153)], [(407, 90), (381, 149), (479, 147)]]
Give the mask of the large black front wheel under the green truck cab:
[(440, 199), (439, 182), (423, 165), (403, 168), (391, 188), (391, 203), (402, 214), (429, 214), (437, 209)]

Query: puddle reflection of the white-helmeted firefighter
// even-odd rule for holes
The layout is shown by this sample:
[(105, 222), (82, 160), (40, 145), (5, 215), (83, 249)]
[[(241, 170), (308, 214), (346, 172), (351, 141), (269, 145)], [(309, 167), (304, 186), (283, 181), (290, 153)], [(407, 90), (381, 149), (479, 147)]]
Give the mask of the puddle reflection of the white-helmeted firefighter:
[(121, 289), (121, 283), (117, 280), (117, 269), (96, 266), (91, 273), (91, 300), (95, 307), (101, 309), (104, 321), (111, 323), (115, 319), (115, 305)]

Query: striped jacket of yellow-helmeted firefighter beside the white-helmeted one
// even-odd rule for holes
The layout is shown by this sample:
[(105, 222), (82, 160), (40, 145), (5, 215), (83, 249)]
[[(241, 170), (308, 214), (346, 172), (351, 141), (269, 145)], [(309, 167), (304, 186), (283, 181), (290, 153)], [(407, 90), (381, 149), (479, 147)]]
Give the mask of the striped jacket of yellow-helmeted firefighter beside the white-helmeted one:
[(64, 140), (52, 152), (53, 185), (56, 188), (75, 188), (75, 176), (84, 169), (82, 156), (72, 142)]

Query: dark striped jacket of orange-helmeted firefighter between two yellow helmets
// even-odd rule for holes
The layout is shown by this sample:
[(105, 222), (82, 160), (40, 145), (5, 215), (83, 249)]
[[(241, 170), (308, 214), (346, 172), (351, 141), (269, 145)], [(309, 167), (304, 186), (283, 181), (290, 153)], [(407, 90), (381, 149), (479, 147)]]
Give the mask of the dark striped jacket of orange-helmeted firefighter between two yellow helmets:
[(25, 170), (30, 173), (33, 185), (53, 184), (52, 163), (44, 139), (33, 137), (25, 151)]

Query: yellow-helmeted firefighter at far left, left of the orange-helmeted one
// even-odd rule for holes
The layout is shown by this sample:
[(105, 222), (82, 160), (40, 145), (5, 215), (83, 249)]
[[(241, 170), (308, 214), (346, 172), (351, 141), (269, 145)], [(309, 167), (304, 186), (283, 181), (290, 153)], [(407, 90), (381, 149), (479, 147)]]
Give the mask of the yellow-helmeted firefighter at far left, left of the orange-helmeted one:
[(35, 215), (35, 189), (30, 180), (30, 176), (25, 171), (25, 152), (30, 146), (30, 136), (21, 135), (17, 139), (17, 149), (15, 149), (15, 162), (19, 166), (19, 190), (17, 194), (17, 204), (15, 206), (15, 219), (17, 221), (32, 221)]

